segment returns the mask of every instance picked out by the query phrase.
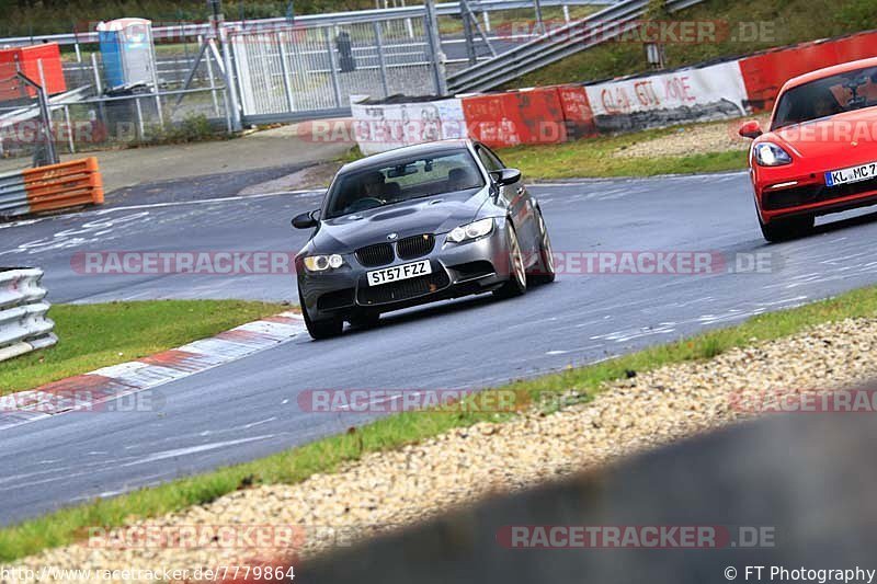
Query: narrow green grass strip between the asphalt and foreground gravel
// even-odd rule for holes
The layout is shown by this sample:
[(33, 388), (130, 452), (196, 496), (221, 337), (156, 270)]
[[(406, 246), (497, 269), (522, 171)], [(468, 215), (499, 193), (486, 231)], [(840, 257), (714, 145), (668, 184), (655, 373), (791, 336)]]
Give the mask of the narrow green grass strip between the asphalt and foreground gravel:
[[(516, 381), (499, 389), (515, 391), (520, 398), (515, 403), (522, 409), (533, 404), (544, 391), (576, 389), (582, 399), (588, 400), (600, 391), (603, 383), (629, 371), (707, 359), (732, 347), (787, 336), (815, 324), (875, 316), (877, 287), (868, 287), (804, 307), (762, 314), (737, 327), (702, 333), (586, 367)], [(247, 485), (295, 483), (316, 472), (334, 472), (342, 463), (357, 460), (366, 453), (398, 448), (453, 427), (487, 420), (497, 421), (498, 416), (479, 412), (407, 412), (261, 460), (58, 511), (0, 529), (0, 561), (11, 561), (83, 539), (92, 527), (118, 527), (137, 518), (208, 503)]]

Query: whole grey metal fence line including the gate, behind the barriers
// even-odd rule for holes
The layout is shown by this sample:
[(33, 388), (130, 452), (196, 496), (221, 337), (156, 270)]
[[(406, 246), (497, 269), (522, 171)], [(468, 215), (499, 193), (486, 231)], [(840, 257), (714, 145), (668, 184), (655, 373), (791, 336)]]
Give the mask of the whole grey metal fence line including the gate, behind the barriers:
[[(349, 115), (356, 95), (445, 94), (446, 72), (471, 79), (486, 69), (457, 71), (481, 60), (494, 67), (503, 54), (516, 66), (542, 50), (531, 44), (542, 19), (556, 28), (611, 1), (542, 0), (536, 10), (534, 0), (463, 0), (227, 23), (218, 38), (206, 24), (159, 26), (155, 82), (125, 91), (107, 90), (100, 53), (83, 44), (93, 34), (34, 38), (75, 43), (64, 62), (70, 89), (50, 95), (45, 114), (33, 94), (3, 92), (15, 71), (0, 70), (0, 157), (38, 163), (46, 136), (60, 152), (187, 141), (241, 123)], [(671, 0), (681, 1), (692, 0)], [(618, 5), (631, 2), (646, 0)]]

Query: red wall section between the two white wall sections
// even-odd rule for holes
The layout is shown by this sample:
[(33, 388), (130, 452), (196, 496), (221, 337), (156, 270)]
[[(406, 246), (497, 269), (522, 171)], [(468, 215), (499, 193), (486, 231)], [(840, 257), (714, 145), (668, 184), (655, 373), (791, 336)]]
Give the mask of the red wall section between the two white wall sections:
[(567, 140), (556, 88), (463, 98), (463, 114), (469, 136), (491, 147)]

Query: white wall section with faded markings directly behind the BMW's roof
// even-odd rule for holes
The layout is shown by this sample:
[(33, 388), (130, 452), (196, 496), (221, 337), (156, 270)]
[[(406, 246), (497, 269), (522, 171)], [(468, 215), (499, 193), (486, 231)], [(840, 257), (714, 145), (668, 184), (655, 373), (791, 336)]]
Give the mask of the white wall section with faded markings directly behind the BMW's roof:
[(411, 103), (351, 103), (353, 131), (364, 154), (433, 140), (466, 138), (458, 99)]

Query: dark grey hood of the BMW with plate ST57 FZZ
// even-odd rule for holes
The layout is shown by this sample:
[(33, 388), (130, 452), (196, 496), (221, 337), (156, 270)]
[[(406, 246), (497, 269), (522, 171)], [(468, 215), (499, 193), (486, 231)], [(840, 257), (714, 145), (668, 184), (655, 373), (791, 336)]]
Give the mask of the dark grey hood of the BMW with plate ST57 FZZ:
[(487, 201), (488, 187), (444, 193), (322, 221), (314, 236), (314, 251), (338, 253), (363, 245), (420, 233), (444, 233), (472, 221)]

